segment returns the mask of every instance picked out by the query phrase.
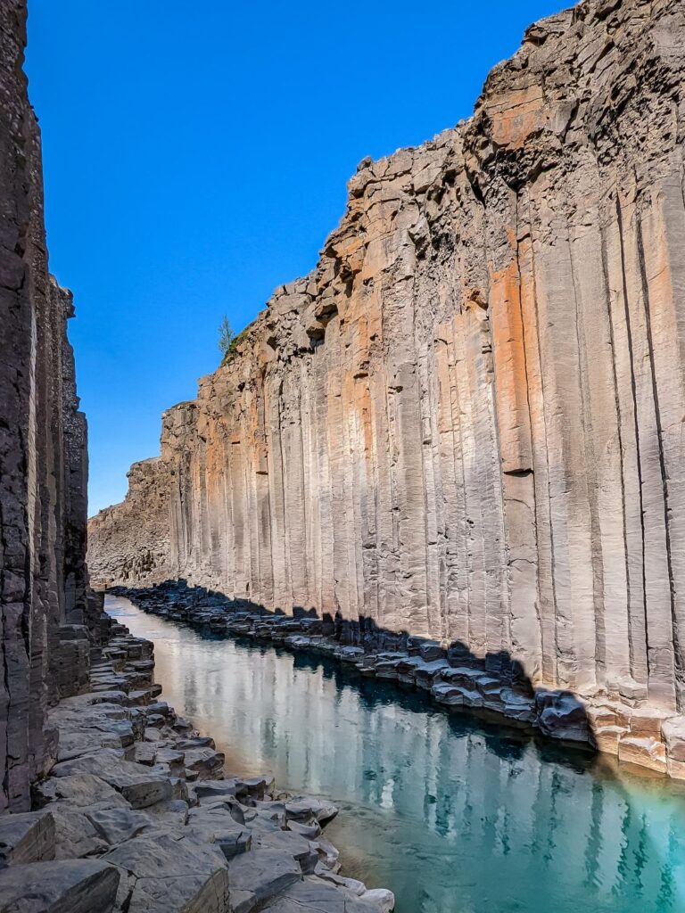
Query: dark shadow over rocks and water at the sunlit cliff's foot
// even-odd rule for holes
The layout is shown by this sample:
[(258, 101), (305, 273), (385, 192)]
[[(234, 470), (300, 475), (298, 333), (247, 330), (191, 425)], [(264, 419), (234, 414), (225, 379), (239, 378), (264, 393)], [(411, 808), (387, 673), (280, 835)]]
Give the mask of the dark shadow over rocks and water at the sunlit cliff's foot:
[[(506, 650), (477, 656), (462, 641), (440, 645), (406, 630), (391, 631), (364, 616), (349, 621), (339, 613), (320, 614), (303, 606), (292, 614), (270, 611), (183, 579), (145, 588), (115, 586), (108, 592), (125, 595), (145, 612), (199, 625), (206, 637), (233, 635), (254, 648), (288, 649), (296, 667), (322, 666), (336, 683), (356, 687), (369, 708), (395, 701), (424, 712), (437, 704), (451, 711), (450, 725), (484, 725), (486, 737), (497, 733), (492, 740), (496, 753), (523, 750), (533, 739), (538, 750), (561, 763), (612, 768), (612, 760), (596, 751), (593, 721), (583, 701), (563, 688), (535, 687), (522, 663)], [(307, 635), (293, 635), (293, 630)], [(281, 634), (290, 635), (288, 641)]]

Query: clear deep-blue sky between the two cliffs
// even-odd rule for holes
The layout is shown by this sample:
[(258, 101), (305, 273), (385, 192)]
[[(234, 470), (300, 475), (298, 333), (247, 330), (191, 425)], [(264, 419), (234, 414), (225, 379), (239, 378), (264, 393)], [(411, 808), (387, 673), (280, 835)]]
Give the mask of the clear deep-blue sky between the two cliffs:
[(50, 267), (90, 423), (90, 513), (159, 452), (273, 289), (308, 272), (365, 155), (473, 110), (483, 79), (564, 0), (29, 0)]

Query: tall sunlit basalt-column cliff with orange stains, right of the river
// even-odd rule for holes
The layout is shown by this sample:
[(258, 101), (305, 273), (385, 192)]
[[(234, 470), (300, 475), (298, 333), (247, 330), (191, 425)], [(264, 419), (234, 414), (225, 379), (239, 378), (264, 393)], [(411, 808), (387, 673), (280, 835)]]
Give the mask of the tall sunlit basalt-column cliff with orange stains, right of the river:
[(90, 521), (94, 576), (680, 708), (684, 68), (681, 0), (588, 0), (469, 121), (364, 160), (317, 268)]

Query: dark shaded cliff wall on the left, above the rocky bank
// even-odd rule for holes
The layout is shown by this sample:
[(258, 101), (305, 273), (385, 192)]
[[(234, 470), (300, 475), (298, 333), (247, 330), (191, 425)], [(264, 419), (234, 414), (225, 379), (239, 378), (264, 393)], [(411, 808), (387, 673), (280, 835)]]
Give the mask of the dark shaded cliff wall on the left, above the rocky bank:
[(26, 4), (0, 5), (0, 813), (54, 760), (47, 706), (88, 663), (86, 420), (47, 271), (40, 135), (22, 71)]

